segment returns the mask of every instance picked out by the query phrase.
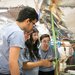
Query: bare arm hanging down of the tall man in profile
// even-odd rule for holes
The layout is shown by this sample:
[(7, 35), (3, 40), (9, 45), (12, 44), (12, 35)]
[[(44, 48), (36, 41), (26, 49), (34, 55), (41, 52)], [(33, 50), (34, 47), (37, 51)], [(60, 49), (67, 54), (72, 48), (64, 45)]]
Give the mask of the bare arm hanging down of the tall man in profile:
[(18, 64), (19, 53), (19, 47), (11, 47), (9, 50), (9, 68), (11, 75), (20, 75)]

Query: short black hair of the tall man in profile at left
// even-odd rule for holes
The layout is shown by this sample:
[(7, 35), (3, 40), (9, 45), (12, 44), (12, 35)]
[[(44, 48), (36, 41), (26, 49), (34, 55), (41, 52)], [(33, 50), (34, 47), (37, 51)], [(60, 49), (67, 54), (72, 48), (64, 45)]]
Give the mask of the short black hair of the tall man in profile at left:
[(24, 20), (26, 20), (28, 18), (30, 19), (30, 21), (35, 20), (35, 19), (38, 21), (38, 14), (34, 8), (29, 7), (29, 6), (25, 6), (19, 12), (16, 21), (23, 22)]

